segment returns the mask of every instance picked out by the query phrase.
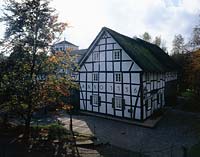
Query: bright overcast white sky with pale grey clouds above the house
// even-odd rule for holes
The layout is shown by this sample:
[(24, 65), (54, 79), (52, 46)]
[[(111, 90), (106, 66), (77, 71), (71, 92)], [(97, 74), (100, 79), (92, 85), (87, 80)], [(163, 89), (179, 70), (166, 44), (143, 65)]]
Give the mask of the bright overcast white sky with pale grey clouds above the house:
[(63, 38), (80, 48), (87, 48), (106, 26), (130, 37), (145, 31), (161, 36), (170, 50), (175, 34), (189, 38), (200, 14), (200, 0), (52, 0), (51, 5), (71, 26)]

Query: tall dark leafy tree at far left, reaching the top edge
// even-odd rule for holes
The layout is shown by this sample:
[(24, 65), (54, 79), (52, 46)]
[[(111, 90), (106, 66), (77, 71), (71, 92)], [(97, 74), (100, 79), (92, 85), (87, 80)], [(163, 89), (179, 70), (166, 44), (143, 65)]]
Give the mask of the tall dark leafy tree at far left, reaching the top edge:
[(11, 54), (1, 69), (1, 95), (8, 92), (9, 99), (4, 104), (24, 119), (25, 134), (29, 135), (32, 114), (41, 105), (38, 95), (43, 84), (38, 78), (48, 66), (49, 44), (67, 24), (58, 22), (48, 0), (8, 0), (0, 21), (7, 26), (4, 53)]

